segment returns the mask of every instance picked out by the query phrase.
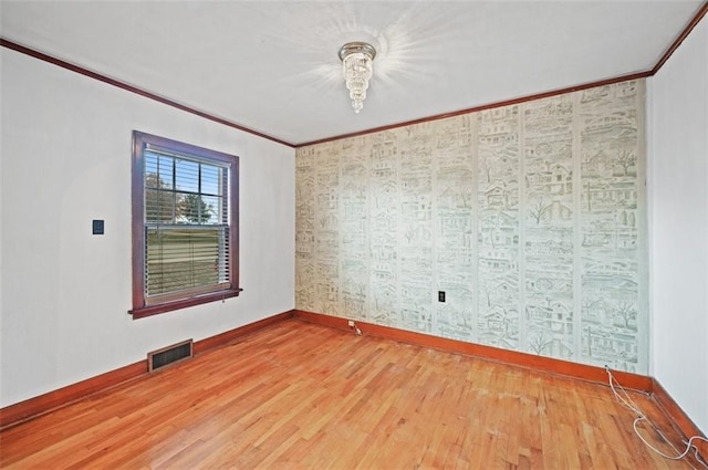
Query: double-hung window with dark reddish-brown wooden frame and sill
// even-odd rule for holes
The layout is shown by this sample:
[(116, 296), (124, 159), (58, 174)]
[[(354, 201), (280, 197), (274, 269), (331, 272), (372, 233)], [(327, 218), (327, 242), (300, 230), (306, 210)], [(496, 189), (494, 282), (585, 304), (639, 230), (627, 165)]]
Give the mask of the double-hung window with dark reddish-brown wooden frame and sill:
[(134, 318), (239, 294), (238, 166), (133, 132)]

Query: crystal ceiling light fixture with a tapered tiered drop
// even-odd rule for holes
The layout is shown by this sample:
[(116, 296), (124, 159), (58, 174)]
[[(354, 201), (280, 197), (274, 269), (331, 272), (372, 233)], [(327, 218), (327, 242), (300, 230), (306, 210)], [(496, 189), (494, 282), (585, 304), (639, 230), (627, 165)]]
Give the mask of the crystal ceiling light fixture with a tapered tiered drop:
[(350, 91), (354, 113), (358, 113), (364, 107), (368, 80), (374, 73), (372, 62), (375, 56), (374, 46), (365, 42), (347, 42), (340, 49), (344, 80)]

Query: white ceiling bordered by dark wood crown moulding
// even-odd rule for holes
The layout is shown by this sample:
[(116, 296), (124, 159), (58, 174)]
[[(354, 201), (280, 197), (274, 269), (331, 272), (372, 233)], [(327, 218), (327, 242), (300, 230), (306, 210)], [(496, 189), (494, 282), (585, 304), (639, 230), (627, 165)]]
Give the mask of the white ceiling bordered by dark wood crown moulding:
[[(0, 35), (299, 145), (648, 71), (701, 3), (0, 0)], [(377, 50), (360, 114), (348, 41)]]

